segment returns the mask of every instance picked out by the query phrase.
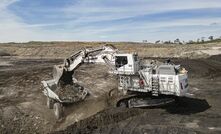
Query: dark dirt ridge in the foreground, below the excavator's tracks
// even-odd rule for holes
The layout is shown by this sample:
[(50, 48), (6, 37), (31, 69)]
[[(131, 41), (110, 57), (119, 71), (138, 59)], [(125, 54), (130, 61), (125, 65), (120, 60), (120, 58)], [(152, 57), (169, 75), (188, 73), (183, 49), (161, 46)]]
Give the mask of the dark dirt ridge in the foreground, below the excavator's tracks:
[[(66, 130), (54, 132), (54, 134), (59, 133), (91, 133), (98, 128), (114, 124), (133, 116), (144, 113), (145, 110), (142, 109), (123, 109), (123, 108), (110, 108), (96, 115), (75, 123)], [(78, 128), (78, 129), (76, 129)], [(103, 132), (105, 132), (103, 130)]]

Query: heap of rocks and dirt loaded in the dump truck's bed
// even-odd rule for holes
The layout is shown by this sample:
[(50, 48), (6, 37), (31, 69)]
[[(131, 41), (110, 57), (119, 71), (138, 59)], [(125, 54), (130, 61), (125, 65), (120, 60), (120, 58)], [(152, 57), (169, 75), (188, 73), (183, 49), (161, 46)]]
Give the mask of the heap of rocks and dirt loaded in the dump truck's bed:
[(78, 84), (68, 84), (59, 86), (55, 93), (59, 96), (62, 101), (66, 102), (76, 102), (84, 97), (84, 87)]

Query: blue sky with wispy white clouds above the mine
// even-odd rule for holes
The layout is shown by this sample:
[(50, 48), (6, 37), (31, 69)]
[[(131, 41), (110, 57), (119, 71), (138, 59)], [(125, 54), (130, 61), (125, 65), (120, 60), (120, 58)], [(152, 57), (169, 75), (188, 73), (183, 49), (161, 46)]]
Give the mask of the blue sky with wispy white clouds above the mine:
[(0, 42), (221, 36), (221, 0), (1, 0)]

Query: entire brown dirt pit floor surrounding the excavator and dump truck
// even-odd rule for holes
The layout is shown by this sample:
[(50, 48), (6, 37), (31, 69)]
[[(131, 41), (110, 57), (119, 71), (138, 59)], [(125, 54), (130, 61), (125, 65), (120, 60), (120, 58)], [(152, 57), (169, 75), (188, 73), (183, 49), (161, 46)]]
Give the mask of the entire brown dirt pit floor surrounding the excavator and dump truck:
[(56, 120), (41, 81), (63, 60), (12, 54), (0, 57), (0, 133), (221, 133), (221, 55), (173, 58), (189, 71), (190, 97), (161, 108), (109, 107), (116, 77), (105, 65), (82, 65), (74, 75), (90, 95)]

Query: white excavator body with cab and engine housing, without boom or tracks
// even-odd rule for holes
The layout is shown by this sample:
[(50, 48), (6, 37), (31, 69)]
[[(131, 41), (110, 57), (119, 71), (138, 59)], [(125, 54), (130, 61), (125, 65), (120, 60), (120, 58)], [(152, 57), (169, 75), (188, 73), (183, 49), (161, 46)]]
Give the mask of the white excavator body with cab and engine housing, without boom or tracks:
[(116, 54), (115, 70), (119, 76), (119, 90), (123, 92), (151, 92), (158, 96), (185, 96), (188, 92), (187, 71), (178, 65), (141, 64), (137, 54)]

